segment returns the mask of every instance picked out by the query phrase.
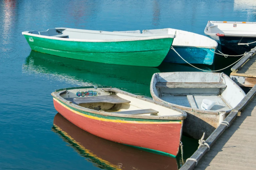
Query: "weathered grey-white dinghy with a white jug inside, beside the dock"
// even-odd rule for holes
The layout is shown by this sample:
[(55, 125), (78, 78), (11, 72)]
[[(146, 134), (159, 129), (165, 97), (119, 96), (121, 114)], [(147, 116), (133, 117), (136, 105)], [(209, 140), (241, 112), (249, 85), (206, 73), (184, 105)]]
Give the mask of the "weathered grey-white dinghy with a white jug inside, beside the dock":
[(150, 92), (155, 101), (188, 113), (183, 133), (195, 139), (204, 132), (207, 138), (246, 95), (226, 74), (207, 72), (155, 73)]

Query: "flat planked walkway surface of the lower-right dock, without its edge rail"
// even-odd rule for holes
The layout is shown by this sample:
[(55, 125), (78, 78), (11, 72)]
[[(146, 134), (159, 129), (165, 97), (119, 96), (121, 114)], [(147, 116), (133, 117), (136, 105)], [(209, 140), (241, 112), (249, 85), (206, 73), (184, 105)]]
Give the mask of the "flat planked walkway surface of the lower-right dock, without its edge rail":
[(256, 168), (256, 97), (233, 120), (195, 169)]

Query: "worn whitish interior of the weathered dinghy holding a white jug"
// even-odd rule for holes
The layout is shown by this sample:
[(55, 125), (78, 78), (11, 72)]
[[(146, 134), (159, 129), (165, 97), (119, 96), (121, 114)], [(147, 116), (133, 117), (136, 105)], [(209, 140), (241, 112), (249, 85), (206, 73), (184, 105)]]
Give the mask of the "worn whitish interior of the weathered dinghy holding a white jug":
[(151, 81), (153, 98), (174, 106), (202, 109), (204, 99), (215, 102), (212, 111), (228, 111), (245, 96), (244, 91), (224, 73), (155, 73)]

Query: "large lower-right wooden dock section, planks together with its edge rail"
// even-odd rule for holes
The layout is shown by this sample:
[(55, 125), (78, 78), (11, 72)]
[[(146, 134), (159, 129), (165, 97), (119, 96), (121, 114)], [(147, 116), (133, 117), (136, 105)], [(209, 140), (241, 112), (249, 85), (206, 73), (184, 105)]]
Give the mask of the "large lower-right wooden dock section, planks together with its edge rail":
[(256, 169), (255, 93), (256, 86), (227, 116), (225, 121), (228, 123), (220, 124), (207, 138), (205, 143), (209, 144), (210, 150), (207, 146), (200, 146), (181, 170)]

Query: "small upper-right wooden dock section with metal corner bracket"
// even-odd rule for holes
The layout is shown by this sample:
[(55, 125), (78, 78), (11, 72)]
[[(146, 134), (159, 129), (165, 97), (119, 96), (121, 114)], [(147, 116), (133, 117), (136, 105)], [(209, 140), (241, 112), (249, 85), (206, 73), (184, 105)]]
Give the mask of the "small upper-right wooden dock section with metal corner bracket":
[(231, 68), (230, 78), (239, 86), (253, 87), (256, 84), (256, 57), (254, 57), (256, 50), (254, 49)]

